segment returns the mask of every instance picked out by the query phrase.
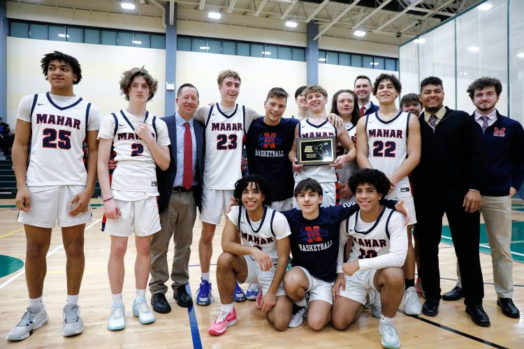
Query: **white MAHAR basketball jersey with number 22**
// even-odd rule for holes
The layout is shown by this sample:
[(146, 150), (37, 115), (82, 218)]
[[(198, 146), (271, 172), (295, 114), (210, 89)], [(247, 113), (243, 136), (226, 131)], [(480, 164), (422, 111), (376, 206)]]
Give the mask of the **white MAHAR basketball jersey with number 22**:
[[(407, 157), (407, 131), (409, 117), (407, 112), (399, 112), (390, 121), (380, 119), (377, 112), (367, 115), (365, 132), (369, 159), (373, 168), (381, 170), (387, 177), (400, 168)], [(412, 196), (409, 179), (400, 179), (393, 191), (388, 195), (391, 198)]]

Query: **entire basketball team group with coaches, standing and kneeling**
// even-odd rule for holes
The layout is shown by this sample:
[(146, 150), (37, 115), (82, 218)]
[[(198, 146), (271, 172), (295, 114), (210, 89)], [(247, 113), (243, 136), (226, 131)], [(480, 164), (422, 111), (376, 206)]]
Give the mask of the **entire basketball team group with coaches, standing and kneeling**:
[[(374, 81), (359, 75), (348, 81), (352, 89), (331, 100), (318, 84), (300, 87), (298, 113), (283, 117), (290, 99), (284, 89), (270, 89), (260, 115), (236, 103), (242, 80), (224, 70), (217, 78), (219, 103), (199, 103), (197, 87), (184, 83), (177, 111), (155, 117), (147, 103), (158, 82), (145, 68), (122, 73), (119, 90), (129, 103), (107, 115), (75, 96), (82, 79), (77, 59), (54, 51), (41, 68), (50, 90), (22, 98), (16, 116), (12, 155), (29, 304), (9, 341), (26, 339), (49, 320), (42, 295), (55, 225), (67, 258), (62, 331), (82, 333), (78, 295), (96, 179), (110, 237), (111, 331), (126, 327), (124, 256), (132, 234), (132, 311), (139, 322), (171, 311), (169, 280), (177, 306), (194, 305), (188, 284), (197, 208), (201, 283), (195, 302), (208, 306), (217, 291), (221, 302), (210, 335), (235, 325), (234, 304), (246, 299), (276, 331), (304, 319), (315, 331), (328, 324), (343, 331), (370, 309), (384, 348), (400, 348), (399, 308), (405, 315), (436, 316), (441, 299), (464, 299), (471, 320), (490, 326), (482, 306), (480, 214), (497, 306), (519, 318), (512, 301), (511, 197), (524, 181), (524, 130), (497, 110), (502, 84), (496, 78), (480, 77), (458, 92), (471, 98), (468, 112), (446, 107), (439, 77), (426, 77), (419, 91), (401, 95), (398, 77), (382, 73)], [(458, 281), (441, 295), (444, 214)], [(224, 216), (212, 285), (214, 233)]]

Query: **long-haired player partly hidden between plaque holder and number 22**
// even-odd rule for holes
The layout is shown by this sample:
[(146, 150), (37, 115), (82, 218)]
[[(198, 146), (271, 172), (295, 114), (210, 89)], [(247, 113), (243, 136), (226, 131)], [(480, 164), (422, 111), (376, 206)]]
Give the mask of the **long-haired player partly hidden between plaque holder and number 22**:
[[(337, 91), (331, 101), (331, 113), (342, 118), (349, 137), (356, 145), (356, 124), (360, 119), (360, 113), (358, 112), (358, 97), (355, 92), (350, 89)], [(337, 155), (342, 155), (344, 152), (345, 149), (342, 144), (337, 144)], [(355, 195), (351, 193), (347, 181), (356, 170), (358, 170), (356, 161), (345, 163), (343, 168), (337, 170), (337, 205), (354, 201)]]

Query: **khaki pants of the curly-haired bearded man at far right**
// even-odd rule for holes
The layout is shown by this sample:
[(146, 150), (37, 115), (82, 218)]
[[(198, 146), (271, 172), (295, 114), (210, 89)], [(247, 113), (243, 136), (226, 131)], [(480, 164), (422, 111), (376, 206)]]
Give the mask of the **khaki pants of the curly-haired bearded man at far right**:
[[(493, 281), (499, 298), (513, 297), (513, 258), (511, 244), (511, 197), (486, 196), (481, 198), (481, 214), (486, 223), (493, 264)], [(457, 285), (462, 287), (457, 265)]]

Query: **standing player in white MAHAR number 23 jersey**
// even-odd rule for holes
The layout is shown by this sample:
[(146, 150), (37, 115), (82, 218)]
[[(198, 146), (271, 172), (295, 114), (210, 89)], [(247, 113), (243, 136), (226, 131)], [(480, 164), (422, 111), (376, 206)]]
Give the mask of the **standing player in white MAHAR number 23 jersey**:
[[(236, 104), (240, 93), (240, 75), (233, 70), (219, 73), (220, 103), (199, 107), (194, 114), (205, 125), (205, 157), (202, 188), (202, 235), (198, 241), (202, 277), (196, 304), (207, 306), (212, 301), (209, 269), (213, 254), (213, 236), (222, 214), (226, 214), (235, 182), (242, 177), (242, 140), (251, 122), (259, 117), (255, 110)], [(235, 301), (245, 301), (240, 286), (235, 288)]]

